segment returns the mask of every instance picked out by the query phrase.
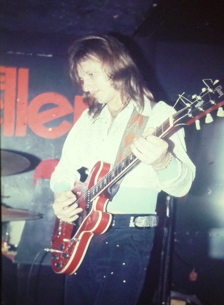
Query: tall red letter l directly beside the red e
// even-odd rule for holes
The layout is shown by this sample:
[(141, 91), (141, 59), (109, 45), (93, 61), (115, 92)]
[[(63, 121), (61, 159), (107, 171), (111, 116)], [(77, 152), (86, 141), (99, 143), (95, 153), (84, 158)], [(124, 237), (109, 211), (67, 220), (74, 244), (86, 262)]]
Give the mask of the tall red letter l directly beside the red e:
[(16, 109), (16, 136), (26, 136), (29, 69), (19, 69)]

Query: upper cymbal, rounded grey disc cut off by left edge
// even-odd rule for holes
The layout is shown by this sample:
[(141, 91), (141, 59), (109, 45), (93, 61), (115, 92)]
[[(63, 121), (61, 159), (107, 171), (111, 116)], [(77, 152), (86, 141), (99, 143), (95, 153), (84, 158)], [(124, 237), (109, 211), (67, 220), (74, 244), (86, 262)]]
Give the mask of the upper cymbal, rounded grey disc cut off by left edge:
[(30, 161), (25, 157), (1, 149), (1, 175), (8, 176), (20, 173), (30, 166)]

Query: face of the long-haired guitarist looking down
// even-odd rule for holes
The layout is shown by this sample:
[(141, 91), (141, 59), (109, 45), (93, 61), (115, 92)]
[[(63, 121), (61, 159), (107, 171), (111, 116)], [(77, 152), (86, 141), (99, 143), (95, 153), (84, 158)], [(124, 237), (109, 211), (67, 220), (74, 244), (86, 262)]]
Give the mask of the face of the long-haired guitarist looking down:
[(96, 98), (100, 104), (120, 104), (120, 93), (112, 86), (102, 63), (96, 58), (86, 59), (77, 66), (82, 88)]

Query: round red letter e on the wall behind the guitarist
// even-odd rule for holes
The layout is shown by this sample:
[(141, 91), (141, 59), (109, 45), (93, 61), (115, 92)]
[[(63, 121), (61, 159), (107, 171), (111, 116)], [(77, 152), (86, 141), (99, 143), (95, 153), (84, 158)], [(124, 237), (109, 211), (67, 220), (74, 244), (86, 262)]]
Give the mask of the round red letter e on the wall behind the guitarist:
[[(57, 107), (39, 113), (40, 107), (44, 104), (55, 104)], [(63, 121), (60, 125), (48, 128), (43, 124), (60, 118), (73, 112), (69, 101), (62, 95), (54, 92), (42, 93), (36, 96), (28, 106), (28, 124), (35, 134), (43, 138), (58, 138), (64, 135), (72, 127), (68, 121)]]

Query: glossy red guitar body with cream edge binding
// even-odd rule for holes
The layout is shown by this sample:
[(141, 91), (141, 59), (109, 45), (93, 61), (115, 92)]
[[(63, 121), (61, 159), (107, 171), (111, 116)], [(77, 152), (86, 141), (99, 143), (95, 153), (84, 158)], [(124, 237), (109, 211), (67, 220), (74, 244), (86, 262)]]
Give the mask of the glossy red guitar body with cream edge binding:
[(96, 185), (111, 168), (110, 164), (99, 161), (93, 167), (85, 183), (74, 185), (72, 191), (80, 199), (80, 207), (83, 211), (79, 214), (79, 218), (72, 223), (56, 218), (51, 255), (54, 272), (74, 273), (82, 263), (94, 234), (103, 234), (109, 228), (112, 215), (105, 212), (107, 202), (110, 199), (107, 189), (100, 196), (96, 196), (90, 210), (88, 210), (88, 202), (86, 202), (88, 196), (85, 194), (86, 190)]

